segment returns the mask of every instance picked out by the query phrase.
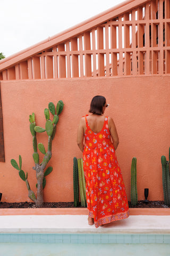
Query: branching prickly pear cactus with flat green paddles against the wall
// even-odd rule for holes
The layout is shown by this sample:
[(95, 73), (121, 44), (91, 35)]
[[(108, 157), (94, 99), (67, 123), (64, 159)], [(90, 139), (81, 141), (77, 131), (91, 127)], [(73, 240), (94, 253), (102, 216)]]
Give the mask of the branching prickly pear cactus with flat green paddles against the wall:
[[(28, 173), (24, 173), (23, 170), (21, 170), (21, 166), (22, 166), (22, 158), (21, 156), (19, 156), (19, 166), (16, 163), (16, 161), (14, 159), (11, 159), (11, 164), (12, 166), (19, 171), (19, 175), (20, 178), (26, 182), (27, 185), (27, 189), (28, 189), (28, 196), (29, 198), (36, 203), (36, 206), (41, 207), (44, 203), (44, 199), (43, 199), (43, 189), (46, 185), (46, 176), (51, 173), (53, 171), (53, 167), (49, 166), (46, 169), (46, 166), (50, 160), (50, 158), (52, 158), (52, 141), (55, 137), (55, 133), (56, 133), (56, 125), (58, 123), (58, 119), (59, 116), (63, 110), (64, 107), (64, 103), (62, 100), (58, 101), (57, 106), (56, 106), (56, 110), (55, 110), (55, 106), (53, 104), (53, 102), (49, 102), (48, 104), (48, 109), (46, 108), (44, 110), (44, 114), (45, 114), (45, 118), (46, 118), (46, 124), (45, 124), (45, 129), (43, 127), (40, 126), (36, 126), (36, 122), (35, 122), (35, 114), (32, 113), (32, 115), (29, 116), (29, 121), (30, 121), (30, 132), (32, 134), (32, 146), (33, 146), (33, 160), (35, 162), (35, 166), (32, 167), (33, 170), (36, 171), (36, 178), (37, 178), (37, 198), (35, 196), (35, 194), (33, 193), (33, 191), (30, 189), (30, 185), (28, 182)], [(51, 121), (50, 115), (49, 115), (49, 111), (50, 113), (52, 113), (53, 115), (53, 121)], [(36, 134), (37, 132), (41, 133), (41, 132), (45, 132), (48, 135), (48, 149), (47, 152), (45, 150), (45, 147), (43, 145), (43, 143), (38, 143), (38, 149), (39, 151), (44, 154), (44, 158), (43, 161), (41, 163), (39, 163), (39, 154), (38, 154), (38, 149), (37, 149), (37, 138), (36, 138)], [(46, 169), (46, 170), (45, 170)]]

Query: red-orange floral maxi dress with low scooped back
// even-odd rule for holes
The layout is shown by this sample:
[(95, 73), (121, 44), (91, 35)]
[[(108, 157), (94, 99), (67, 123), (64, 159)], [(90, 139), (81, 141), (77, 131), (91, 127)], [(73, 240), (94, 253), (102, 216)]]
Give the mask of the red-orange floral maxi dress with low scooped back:
[(115, 155), (108, 129), (108, 116), (103, 129), (95, 133), (87, 118), (83, 168), (86, 179), (86, 196), (89, 217), (94, 218), (95, 227), (129, 217), (128, 199), (120, 166)]

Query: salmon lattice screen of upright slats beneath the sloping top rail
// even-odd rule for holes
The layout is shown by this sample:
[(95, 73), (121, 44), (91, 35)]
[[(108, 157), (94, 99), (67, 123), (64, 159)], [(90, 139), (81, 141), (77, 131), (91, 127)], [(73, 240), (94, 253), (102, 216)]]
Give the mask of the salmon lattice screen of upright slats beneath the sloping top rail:
[(170, 74), (170, 5), (152, 0), (0, 69), (0, 80), (164, 74)]

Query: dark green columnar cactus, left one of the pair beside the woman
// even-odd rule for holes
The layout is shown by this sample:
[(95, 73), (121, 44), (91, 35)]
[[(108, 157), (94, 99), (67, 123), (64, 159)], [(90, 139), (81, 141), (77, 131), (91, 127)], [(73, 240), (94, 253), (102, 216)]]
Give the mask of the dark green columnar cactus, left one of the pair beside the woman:
[(78, 175), (78, 161), (73, 158), (73, 188), (74, 188), (74, 206), (79, 205), (79, 175)]

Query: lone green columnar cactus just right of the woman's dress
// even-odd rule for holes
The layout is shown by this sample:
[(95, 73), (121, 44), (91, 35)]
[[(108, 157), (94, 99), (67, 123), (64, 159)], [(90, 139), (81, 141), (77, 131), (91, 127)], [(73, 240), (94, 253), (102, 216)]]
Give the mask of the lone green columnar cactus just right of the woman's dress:
[(137, 158), (132, 158), (131, 164), (131, 204), (138, 204), (138, 191), (137, 191)]

